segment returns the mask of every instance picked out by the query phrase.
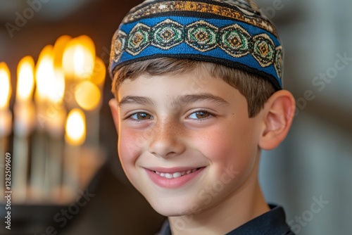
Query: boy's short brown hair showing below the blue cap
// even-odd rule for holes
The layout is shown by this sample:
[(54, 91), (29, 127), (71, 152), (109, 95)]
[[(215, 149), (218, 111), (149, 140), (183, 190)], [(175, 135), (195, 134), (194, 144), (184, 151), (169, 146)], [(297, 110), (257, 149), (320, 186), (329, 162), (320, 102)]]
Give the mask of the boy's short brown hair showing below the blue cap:
[(275, 93), (275, 88), (268, 80), (253, 73), (215, 63), (177, 58), (155, 58), (122, 66), (114, 72), (112, 91), (116, 95), (121, 82), (134, 80), (140, 75), (175, 75), (199, 69), (208, 71), (211, 76), (220, 78), (237, 89), (246, 98), (249, 118), (255, 117)]

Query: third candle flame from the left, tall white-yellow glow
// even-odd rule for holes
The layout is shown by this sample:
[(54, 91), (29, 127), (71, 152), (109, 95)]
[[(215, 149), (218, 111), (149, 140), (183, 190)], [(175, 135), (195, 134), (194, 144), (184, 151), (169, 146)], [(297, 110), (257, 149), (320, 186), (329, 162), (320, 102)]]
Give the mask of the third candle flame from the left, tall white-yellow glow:
[(36, 98), (39, 100), (47, 99), (50, 87), (54, 86), (54, 53), (53, 46), (48, 45), (39, 54), (35, 78), (37, 82)]

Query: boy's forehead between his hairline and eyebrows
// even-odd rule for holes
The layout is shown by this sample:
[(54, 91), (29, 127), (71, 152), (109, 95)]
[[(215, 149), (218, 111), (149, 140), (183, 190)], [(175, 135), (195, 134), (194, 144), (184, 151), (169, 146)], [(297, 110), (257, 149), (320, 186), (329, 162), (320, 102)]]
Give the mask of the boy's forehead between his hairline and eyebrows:
[[(241, 96), (237, 89), (208, 72), (185, 72), (177, 75), (141, 75), (125, 80), (118, 89), (118, 101), (124, 103), (154, 102), (194, 103), (213, 101), (222, 105)], [(146, 98), (146, 99), (145, 99)], [(244, 98), (244, 97), (243, 97)]]

